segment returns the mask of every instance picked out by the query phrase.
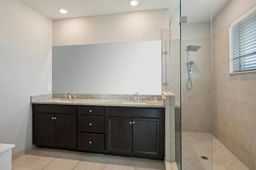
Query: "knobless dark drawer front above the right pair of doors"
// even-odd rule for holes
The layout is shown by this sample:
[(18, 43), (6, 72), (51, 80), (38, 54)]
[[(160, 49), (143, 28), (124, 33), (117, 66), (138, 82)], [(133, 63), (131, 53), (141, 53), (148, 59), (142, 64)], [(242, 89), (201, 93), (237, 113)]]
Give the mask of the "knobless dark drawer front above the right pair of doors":
[(108, 107), (108, 115), (124, 117), (159, 117), (158, 108)]

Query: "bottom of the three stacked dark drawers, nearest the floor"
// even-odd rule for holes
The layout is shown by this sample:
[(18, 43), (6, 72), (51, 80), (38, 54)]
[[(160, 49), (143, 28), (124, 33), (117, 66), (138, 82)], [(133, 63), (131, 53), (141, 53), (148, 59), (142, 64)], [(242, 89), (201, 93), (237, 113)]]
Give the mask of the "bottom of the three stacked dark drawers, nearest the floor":
[(104, 135), (78, 133), (78, 149), (104, 151)]

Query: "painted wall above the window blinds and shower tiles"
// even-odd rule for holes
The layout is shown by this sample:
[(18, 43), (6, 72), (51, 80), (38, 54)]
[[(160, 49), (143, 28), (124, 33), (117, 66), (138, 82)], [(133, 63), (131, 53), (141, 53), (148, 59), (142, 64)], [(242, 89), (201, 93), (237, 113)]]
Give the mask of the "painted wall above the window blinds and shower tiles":
[(255, 5), (256, 0), (230, 0), (212, 20), (212, 35), (215, 35)]

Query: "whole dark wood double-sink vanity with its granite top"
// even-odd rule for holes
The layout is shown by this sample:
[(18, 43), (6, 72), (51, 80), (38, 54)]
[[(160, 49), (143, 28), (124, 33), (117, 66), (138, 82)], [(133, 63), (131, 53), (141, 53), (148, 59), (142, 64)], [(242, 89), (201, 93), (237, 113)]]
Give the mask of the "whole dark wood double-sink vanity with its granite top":
[(123, 103), (92, 99), (32, 102), (33, 144), (163, 160), (163, 101)]

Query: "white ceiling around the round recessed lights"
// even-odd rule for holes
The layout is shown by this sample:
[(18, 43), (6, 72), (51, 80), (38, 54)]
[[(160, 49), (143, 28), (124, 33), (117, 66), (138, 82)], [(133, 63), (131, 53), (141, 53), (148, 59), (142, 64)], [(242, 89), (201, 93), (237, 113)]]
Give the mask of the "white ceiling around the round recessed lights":
[[(179, 7), (179, 0), (139, 0), (137, 6), (131, 6), (129, 0), (21, 0), (44, 14), (52, 20), (64, 18), (76, 18), (84, 16), (98, 16), (135, 12), (144, 10), (156, 10), (169, 8), (169, 24), (172, 21), (175, 9)], [(213, 18), (222, 10), (230, 0), (213, 0)], [(61, 14), (58, 9), (68, 10), (67, 14)], [(188, 23), (210, 21), (210, 0), (182, 0), (182, 16), (188, 16)]]

